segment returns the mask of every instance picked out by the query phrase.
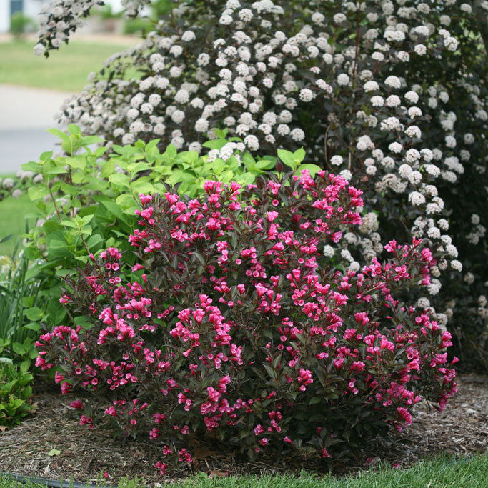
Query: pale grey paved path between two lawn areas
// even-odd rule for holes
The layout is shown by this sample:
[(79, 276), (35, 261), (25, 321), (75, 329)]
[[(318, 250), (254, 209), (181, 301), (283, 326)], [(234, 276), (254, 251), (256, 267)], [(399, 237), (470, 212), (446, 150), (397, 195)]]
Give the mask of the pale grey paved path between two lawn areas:
[(58, 140), (47, 129), (69, 94), (62, 91), (0, 84), (0, 174), (14, 173), (21, 164), (38, 161)]

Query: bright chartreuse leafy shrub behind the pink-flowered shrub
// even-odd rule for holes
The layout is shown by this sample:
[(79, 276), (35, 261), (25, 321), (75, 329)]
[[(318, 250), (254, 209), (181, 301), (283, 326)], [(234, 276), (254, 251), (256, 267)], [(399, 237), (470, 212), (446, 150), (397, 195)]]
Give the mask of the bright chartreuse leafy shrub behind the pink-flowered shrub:
[[(139, 194), (164, 194), (166, 184), (171, 184), (180, 194), (194, 197), (207, 179), (246, 185), (277, 163), (276, 156), (252, 156), (239, 138), (226, 139), (226, 131), (216, 131), (217, 139), (204, 144), (209, 150), (205, 156), (176, 151), (171, 145), (161, 152), (157, 139), (93, 149), (103, 143), (101, 138), (83, 136), (74, 125), (66, 134), (57, 129), (51, 133), (61, 139), (65, 156), (44, 152), (39, 161), (23, 166), (36, 174), (29, 198), (39, 219), (27, 236), (24, 252), (36, 261), (29, 276), (42, 282), (39, 296), (44, 304), (29, 312), (31, 327), (70, 320), (59, 304), (61, 277), (76, 273), (89, 254), (97, 256), (106, 247), (118, 247), (126, 253), (126, 261), (134, 263), (134, 248), (126, 236), (136, 224)], [(303, 149), (279, 151), (288, 169), (317, 171), (318, 166), (302, 164), (304, 155)]]

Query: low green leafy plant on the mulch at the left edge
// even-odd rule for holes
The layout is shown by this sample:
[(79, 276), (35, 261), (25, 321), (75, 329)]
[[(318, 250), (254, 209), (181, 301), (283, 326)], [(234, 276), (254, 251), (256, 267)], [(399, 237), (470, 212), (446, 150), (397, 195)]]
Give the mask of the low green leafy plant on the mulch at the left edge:
[(0, 361), (0, 425), (20, 424), (32, 412), (27, 401), (32, 394), (33, 379), (26, 364), (16, 367)]

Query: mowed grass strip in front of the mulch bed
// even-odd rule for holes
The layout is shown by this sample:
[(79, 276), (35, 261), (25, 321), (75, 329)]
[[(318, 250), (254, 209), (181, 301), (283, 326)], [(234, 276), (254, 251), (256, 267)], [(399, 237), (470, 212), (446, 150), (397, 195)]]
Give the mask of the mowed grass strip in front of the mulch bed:
[[(316, 477), (309, 474), (292, 477), (284, 476), (242, 476), (206, 477), (201, 473), (182, 482), (168, 484), (180, 488), (486, 488), (488, 486), (488, 454), (472, 459), (447, 459), (439, 457), (434, 461), (424, 461), (409, 469), (380, 467), (371, 472), (360, 472), (345, 478)], [(162, 480), (161, 480), (162, 481)], [(107, 484), (112, 484), (110, 481)], [(37, 488), (45, 486), (26, 482), (20, 484), (6, 477), (0, 477), (0, 488), (24, 486)], [(99, 484), (100, 487), (104, 483)], [(144, 479), (124, 479), (119, 488), (144, 486)], [(69, 483), (66, 484), (69, 487)]]

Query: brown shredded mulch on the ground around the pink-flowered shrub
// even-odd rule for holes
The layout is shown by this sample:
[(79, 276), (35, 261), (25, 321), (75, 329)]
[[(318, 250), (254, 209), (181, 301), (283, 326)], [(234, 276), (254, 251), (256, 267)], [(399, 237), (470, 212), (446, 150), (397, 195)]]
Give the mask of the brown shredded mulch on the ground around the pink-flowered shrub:
[[(46, 392), (36, 394), (36, 414), (19, 427), (1, 432), (0, 471), (51, 479), (74, 479), (95, 482), (105, 471), (106, 481), (114, 483), (121, 477), (144, 478), (147, 484), (169, 482), (154, 469), (160, 461), (161, 448), (151, 442), (113, 439), (104, 429), (81, 428), (67, 407), (71, 395)], [(55, 449), (55, 450), (54, 450)], [(419, 459), (436, 454), (456, 457), (471, 456), (488, 449), (488, 377), (464, 375), (459, 378), (459, 392), (442, 413), (426, 404), (417, 406), (414, 424), (399, 434), (394, 442), (369, 447), (363, 461), (351, 469), (364, 469), (378, 462), (408, 466)], [(194, 447), (194, 471), (213, 476), (227, 474), (264, 474), (299, 471), (302, 467), (287, 461), (236, 462), (224, 454)], [(364, 464), (366, 458), (369, 458)], [(339, 469), (344, 472), (344, 469)], [(188, 473), (181, 473), (185, 476)]]

